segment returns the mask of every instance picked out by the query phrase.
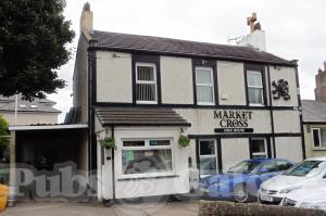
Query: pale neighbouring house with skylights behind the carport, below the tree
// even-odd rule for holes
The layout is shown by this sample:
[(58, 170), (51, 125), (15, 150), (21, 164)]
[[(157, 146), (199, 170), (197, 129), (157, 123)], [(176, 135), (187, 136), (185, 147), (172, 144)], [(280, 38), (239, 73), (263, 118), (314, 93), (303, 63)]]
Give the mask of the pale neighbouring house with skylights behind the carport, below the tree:
[(57, 124), (61, 111), (53, 107), (48, 99), (22, 100), (17, 97), (17, 118), (15, 122), (15, 96), (0, 97), (0, 115), (9, 125)]

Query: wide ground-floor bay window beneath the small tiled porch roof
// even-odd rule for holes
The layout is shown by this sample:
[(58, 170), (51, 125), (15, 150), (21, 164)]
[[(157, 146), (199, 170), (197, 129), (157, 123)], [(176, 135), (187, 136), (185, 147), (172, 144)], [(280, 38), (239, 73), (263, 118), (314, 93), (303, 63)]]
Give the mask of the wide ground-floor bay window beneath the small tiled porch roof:
[(166, 174), (173, 171), (172, 140), (124, 140), (122, 174)]

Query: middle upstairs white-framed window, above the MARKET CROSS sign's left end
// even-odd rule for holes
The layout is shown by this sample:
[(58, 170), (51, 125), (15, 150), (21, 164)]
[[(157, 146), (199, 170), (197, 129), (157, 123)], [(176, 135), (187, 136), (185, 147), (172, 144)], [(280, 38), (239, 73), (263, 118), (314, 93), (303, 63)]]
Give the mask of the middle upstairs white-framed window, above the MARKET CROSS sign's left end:
[(197, 103), (214, 105), (214, 81), (212, 67), (196, 67)]

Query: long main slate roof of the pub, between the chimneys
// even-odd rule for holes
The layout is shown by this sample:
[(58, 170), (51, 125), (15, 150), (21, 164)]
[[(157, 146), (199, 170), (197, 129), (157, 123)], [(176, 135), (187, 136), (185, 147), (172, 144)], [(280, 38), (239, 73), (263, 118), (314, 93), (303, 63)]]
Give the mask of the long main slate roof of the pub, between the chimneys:
[(296, 66), (294, 63), (267, 52), (240, 46), (196, 42), (152, 36), (128, 35), (95, 30), (90, 34), (98, 47), (130, 51), (159, 52), (160, 54), (221, 58)]

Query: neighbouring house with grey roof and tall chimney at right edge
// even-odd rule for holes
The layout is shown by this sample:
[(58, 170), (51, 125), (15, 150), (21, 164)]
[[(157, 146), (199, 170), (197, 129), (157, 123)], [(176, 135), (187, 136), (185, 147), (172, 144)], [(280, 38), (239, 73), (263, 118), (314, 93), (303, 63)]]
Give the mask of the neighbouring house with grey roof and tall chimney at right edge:
[(326, 156), (326, 62), (315, 76), (315, 100), (303, 100), (303, 127), (308, 157)]

